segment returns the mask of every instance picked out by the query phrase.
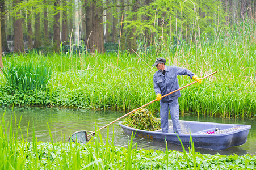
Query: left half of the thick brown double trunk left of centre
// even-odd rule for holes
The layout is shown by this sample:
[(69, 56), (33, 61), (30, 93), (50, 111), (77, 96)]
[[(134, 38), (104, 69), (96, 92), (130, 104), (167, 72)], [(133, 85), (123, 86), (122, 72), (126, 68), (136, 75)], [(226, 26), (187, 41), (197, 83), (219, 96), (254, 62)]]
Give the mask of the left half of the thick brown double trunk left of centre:
[(91, 11), (91, 3), (88, 2), (88, 0), (85, 0), (85, 12), (86, 12), (86, 44), (90, 48), (91, 46), (91, 31), (93, 30), (93, 22), (92, 22), (92, 11)]

